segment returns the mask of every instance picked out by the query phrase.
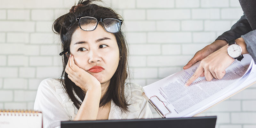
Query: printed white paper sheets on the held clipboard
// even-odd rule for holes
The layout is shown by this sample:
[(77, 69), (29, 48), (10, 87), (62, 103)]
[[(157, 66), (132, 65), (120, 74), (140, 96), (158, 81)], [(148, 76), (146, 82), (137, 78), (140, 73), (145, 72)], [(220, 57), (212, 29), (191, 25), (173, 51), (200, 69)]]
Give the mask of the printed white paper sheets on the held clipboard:
[[(199, 77), (185, 87), (198, 65), (196, 63), (191, 68), (143, 87), (148, 98), (156, 95), (171, 111), (171, 114), (166, 115), (167, 118), (194, 116), (256, 81), (255, 64), (247, 54), (241, 62), (235, 60), (226, 69), (222, 79), (206, 81), (205, 77)], [(154, 104), (163, 114), (168, 113), (162, 102), (155, 99)]]

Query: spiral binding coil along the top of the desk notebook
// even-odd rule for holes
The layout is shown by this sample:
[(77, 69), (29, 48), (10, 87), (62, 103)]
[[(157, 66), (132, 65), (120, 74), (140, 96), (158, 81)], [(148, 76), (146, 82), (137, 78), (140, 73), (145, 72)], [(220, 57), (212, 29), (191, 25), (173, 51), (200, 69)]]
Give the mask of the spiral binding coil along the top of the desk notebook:
[(0, 116), (38, 116), (38, 111), (33, 110), (2, 110)]

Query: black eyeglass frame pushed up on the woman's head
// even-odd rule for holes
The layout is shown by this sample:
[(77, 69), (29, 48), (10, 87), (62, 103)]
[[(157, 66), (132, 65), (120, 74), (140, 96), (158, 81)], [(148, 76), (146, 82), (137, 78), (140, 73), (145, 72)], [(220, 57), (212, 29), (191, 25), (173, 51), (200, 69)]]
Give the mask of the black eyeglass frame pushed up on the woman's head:
[[(102, 25), (103, 25), (103, 28), (104, 28), (107, 32), (109, 32), (109, 31), (105, 28), (105, 26), (104, 26), (104, 24), (103, 24), (103, 22), (104, 22), (105, 19), (114, 19), (114, 20), (119, 21), (119, 23), (120, 23), (120, 26), (119, 26), (117, 32), (109, 32), (109, 33), (118, 33), (118, 32), (120, 31), (120, 29), (121, 29), (121, 25), (123, 24), (123, 20), (119, 20), (119, 19), (116, 19), (116, 18), (95, 18), (95, 17), (91, 17), (91, 16), (78, 16), (78, 17), (76, 17), (76, 20), (78, 21), (78, 24), (79, 24), (79, 27), (80, 27), (80, 28), (81, 28), (80, 19), (81, 19), (81, 18), (86, 18), (86, 17), (88, 17), (88, 18), (94, 18), (94, 19), (97, 21), (97, 25), (96, 25), (96, 27), (95, 27), (93, 30), (95, 30), (95, 29), (97, 28), (99, 22), (101, 22)], [(81, 28), (81, 29), (84, 30), (83, 28)], [(84, 30), (84, 31), (93, 31), (93, 30)]]

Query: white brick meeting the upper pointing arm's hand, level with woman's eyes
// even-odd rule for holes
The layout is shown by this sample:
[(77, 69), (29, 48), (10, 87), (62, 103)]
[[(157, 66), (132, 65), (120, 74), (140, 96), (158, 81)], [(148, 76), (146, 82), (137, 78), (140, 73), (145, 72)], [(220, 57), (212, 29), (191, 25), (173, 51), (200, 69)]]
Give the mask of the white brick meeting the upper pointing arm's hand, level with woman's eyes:
[(194, 55), (197, 51), (204, 48), (207, 44), (182, 44), (182, 54)]

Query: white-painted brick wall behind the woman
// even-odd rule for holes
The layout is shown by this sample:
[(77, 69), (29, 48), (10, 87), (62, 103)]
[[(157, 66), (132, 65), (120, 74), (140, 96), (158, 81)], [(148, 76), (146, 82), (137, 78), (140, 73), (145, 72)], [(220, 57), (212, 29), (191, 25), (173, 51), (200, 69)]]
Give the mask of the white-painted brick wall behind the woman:
[[(124, 18), (131, 79), (141, 86), (182, 70), (196, 51), (229, 30), (243, 15), (238, 0), (103, 1)], [(52, 23), (74, 3), (1, 1), (0, 109), (33, 109), (40, 82), (60, 76), (61, 47)], [(255, 128), (255, 92), (256, 84), (201, 116), (217, 115), (216, 128)], [(159, 117), (154, 110), (153, 115)]]

